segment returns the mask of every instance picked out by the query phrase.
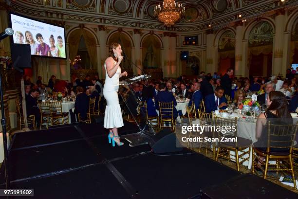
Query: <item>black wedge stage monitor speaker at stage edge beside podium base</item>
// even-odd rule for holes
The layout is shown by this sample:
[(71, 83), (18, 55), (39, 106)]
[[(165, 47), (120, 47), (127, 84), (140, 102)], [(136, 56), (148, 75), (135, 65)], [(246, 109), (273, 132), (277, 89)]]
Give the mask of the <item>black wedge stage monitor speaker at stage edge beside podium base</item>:
[(154, 153), (170, 153), (183, 150), (176, 138), (176, 134), (172, 133), (169, 128), (162, 129), (156, 133), (152, 140), (154, 144), (151, 147)]

